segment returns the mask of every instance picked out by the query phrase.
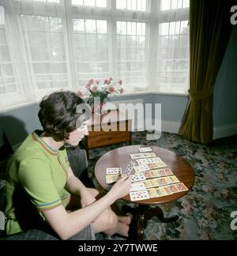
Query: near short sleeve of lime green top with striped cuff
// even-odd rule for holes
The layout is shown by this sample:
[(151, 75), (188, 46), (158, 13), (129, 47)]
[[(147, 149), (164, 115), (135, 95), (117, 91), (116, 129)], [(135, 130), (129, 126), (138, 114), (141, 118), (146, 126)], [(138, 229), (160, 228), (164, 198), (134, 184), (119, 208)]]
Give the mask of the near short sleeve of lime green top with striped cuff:
[(39, 211), (62, 205), (49, 164), (40, 159), (23, 160), (19, 167), (19, 181)]

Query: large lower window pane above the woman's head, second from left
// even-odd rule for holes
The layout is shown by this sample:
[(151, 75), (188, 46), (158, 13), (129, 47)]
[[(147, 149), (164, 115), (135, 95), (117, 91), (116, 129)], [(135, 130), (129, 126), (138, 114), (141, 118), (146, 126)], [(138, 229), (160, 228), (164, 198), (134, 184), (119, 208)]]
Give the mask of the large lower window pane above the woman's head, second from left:
[(28, 65), (38, 89), (68, 88), (62, 19), (21, 15)]

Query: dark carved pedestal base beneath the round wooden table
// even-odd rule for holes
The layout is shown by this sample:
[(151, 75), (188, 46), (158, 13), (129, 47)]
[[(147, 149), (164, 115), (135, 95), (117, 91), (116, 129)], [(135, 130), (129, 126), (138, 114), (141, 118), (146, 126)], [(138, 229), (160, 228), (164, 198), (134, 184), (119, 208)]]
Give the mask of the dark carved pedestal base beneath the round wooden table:
[(143, 239), (146, 223), (147, 221), (151, 220), (153, 216), (156, 216), (158, 220), (160, 220), (162, 223), (169, 223), (172, 221), (179, 220), (178, 215), (165, 218), (164, 213), (159, 206), (154, 206), (149, 209), (148, 205), (138, 205), (136, 207), (123, 205), (122, 213), (130, 213), (133, 216), (136, 233), (133, 235), (133, 237), (130, 237), (130, 239), (134, 241), (141, 241)]

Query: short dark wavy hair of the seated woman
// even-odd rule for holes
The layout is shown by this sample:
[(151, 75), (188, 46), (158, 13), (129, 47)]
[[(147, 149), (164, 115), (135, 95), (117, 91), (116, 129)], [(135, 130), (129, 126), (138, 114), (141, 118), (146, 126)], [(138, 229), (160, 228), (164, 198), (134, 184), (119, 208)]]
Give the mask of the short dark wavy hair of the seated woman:
[[(69, 139), (69, 134), (81, 125), (78, 122), (83, 113), (77, 113), (77, 106), (84, 100), (74, 92), (54, 92), (40, 103), (39, 119), (47, 136), (55, 141)], [(85, 116), (85, 119), (89, 117)], [(80, 120), (79, 120), (80, 121)]]

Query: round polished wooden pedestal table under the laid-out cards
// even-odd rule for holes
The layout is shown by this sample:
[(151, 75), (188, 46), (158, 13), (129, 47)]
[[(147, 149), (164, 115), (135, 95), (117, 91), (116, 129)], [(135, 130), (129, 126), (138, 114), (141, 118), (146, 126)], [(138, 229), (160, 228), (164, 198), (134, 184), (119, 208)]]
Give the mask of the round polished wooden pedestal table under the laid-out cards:
[[(131, 161), (130, 154), (139, 153), (138, 148), (141, 147), (144, 146), (126, 146), (119, 149), (111, 150), (110, 152), (107, 152), (105, 155), (100, 157), (100, 160), (98, 160), (96, 163), (95, 175), (98, 183), (100, 183), (100, 186), (102, 186), (104, 190), (109, 190), (111, 187), (105, 182), (106, 169), (121, 167), (122, 171), (125, 171), (126, 166), (130, 164)], [(128, 205), (123, 206), (123, 213), (132, 213), (134, 216), (134, 221), (137, 226), (137, 235), (136, 237), (134, 237), (134, 239), (136, 240), (142, 239), (142, 236), (144, 234), (145, 222), (147, 220), (150, 220), (152, 216), (157, 216), (160, 221), (164, 223), (178, 220), (179, 216), (171, 216), (169, 218), (165, 218), (162, 209), (160, 209), (158, 205), (182, 198), (192, 189), (195, 181), (193, 168), (186, 160), (182, 158), (182, 156), (179, 156), (167, 149), (160, 149), (155, 146), (150, 146), (150, 148), (152, 149), (152, 152), (156, 153), (156, 156), (159, 156), (160, 159), (163, 160), (165, 164), (167, 164), (167, 168), (170, 168), (174, 175), (177, 176), (179, 181), (181, 183), (184, 183), (184, 185), (189, 190), (177, 194), (171, 194), (163, 198), (152, 198), (142, 201), (133, 201), (134, 204), (138, 205), (137, 207), (130, 207)], [(131, 202), (129, 194), (122, 199)], [(152, 205), (152, 207), (149, 207), (149, 205)]]

